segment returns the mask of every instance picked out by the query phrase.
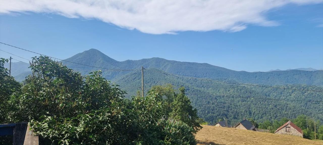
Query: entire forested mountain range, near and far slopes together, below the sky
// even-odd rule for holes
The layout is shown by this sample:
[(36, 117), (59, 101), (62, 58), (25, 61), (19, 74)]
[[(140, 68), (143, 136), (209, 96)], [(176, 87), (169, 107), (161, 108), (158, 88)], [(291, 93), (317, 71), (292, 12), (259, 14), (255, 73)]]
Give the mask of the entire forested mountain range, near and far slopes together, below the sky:
[[(174, 88), (184, 86), (187, 96), (198, 110), (199, 116), (210, 123), (215, 123), (220, 118), (227, 118), (234, 122), (252, 117), (257, 121), (264, 121), (283, 117), (294, 118), (299, 114), (306, 114), (323, 121), (323, 107), (318, 103), (255, 99), (323, 101), (322, 92), (255, 87), (194, 78), (282, 88), (323, 90), (323, 71), (320, 70), (245, 72), (208, 63), (178, 62), (157, 57), (119, 62), (96, 49), (78, 53), (66, 60), (100, 68), (135, 70), (101, 69), (103, 77), (112, 83), (119, 84), (121, 89), (127, 91), (127, 98), (140, 90), (141, 66), (143, 66), (145, 68), (145, 92), (153, 85), (172, 84)], [(99, 70), (99, 68), (69, 62), (62, 61), (68, 68), (83, 75)], [(30, 74), (30, 69), (27, 68), (29, 64), (26, 64), (12, 63), (12, 72), (16, 72), (12, 75), (16, 80), (22, 81), (27, 74)]]

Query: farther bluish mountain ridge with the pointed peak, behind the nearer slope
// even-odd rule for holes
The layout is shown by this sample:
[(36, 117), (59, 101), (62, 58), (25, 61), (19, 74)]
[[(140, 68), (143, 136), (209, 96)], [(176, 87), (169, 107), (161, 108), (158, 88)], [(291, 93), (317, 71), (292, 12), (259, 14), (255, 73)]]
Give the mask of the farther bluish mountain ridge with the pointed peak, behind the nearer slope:
[[(200, 78), (210, 78), (215, 80), (232, 80), (243, 83), (255, 83), (266, 85), (282, 85), (282, 84), (307, 84), (307, 85), (323, 85), (323, 71), (272, 71), (272, 72), (245, 72), (233, 71), (223, 67), (214, 66), (208, 63), (190, 63), (170, 61), (162, 58), (150, 58), (141, 60), (126, 60), (118, 62), (96, 49), (90, 49), (82, 53), (78, 53), (67, 61), (82, 63), (97, 67), (110, 69), (140, 69), (157, 68), (167, 73), (174, 73), (185, 76), (193, 76)], [(67, 63), (69, 68), (75, 69), (86, 74), (97, 68), (83, 66), (74, 63)], [(107, 79), (113, 79), (129, 73), (129, 71), (105, 71)]]

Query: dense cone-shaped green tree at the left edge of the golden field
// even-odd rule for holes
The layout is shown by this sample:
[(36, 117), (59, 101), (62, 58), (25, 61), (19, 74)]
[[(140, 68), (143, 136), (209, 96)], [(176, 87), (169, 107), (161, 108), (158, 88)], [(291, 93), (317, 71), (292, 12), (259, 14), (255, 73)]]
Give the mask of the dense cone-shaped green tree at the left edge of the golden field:
[(196, 122), (198, 119), (197, 110), (193, 109), (190, 99), (185, 96), (185, 88), (181, 87), (179, 89), (180, 93), (176, 95), (172, 103), (172, 112), (170, 113), (170, 118), (182, 121), (197, 132), (202, 128), (202, 126)]

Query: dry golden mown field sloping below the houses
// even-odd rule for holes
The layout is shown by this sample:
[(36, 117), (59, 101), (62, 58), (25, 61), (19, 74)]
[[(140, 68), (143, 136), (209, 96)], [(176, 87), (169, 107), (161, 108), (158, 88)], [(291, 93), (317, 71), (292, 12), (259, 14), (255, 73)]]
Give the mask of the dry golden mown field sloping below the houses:
[(323, 145), (322, 140), (203, 125), (196, 134), (198, 145)]

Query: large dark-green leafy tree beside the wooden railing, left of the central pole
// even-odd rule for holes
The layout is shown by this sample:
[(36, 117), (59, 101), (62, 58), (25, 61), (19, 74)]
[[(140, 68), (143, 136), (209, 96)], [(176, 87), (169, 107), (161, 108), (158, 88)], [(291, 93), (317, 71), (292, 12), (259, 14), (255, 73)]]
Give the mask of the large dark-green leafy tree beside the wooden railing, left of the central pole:
[[(81, 76), (48, 57), (34, 57), (32, 75), (11, 118), (29, 121), (42, 144), (130, 144), (130, 107), (125, 92), (100, 71)], [(129, 133), (130, 132), (130, 133)]]

